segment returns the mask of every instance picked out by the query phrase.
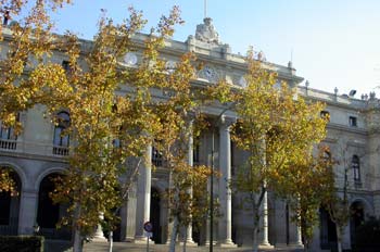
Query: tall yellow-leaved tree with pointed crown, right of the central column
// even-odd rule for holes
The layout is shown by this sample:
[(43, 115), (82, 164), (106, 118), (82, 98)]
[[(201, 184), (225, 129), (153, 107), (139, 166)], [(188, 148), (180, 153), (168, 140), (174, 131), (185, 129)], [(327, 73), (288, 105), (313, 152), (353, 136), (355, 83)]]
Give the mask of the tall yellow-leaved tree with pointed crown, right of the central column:
[(322, 105), (308, 104), (288, 85), (276, 87), (276, 74), (248, 53), (248, 87), (236, 92), (238, 123), (232, 140), (250, 156), (239, 167), (232, 186), (248, 194), (253, 214), (253, 248), (257, 251), (259, 207), (268, 190), (286, 179), (282, 173), (311, 155), (314, 144), (325, 138)]

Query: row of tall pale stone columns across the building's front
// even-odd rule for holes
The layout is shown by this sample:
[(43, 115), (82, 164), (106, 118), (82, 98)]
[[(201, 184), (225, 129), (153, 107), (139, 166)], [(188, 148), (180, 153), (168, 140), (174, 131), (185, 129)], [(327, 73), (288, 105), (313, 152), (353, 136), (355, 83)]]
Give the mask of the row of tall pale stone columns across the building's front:
[[(221, 216), (218, 219), (218, 242), (220, 247), (236, 247), (232, 242), (232, 199), (229, 181), (231, 180), (231, 139), (230, 139), (230, 126), (233, 119), (223, 118), (219, 123), (219, 168), (221, 177), (218, 184), (218, 197), (221, 212)], [(147, 148), (147, 163), (140, 167), (139, 177), (137, 181), (137, 202), (136, 202), (136, 232), (135, 242), (145, 242), (147, 237), (143, 232), (143, 224), (150, 220), (150, 200), (151, 200), (151, 154), (152, 147)], [(188, 163), (193, 165), (193, 138), (189, 137), (188, 147)], [(271, 247), (268, 239), (268, 199), (267, 193), (263, 199), (263, 236), (261, 237), (262, 247)], [(278, 228), (277, 228), (278, 229)], [(301, 232), (299, 228), (296, 234), (296, 244), (302, 244)], [(277, 231), (277, 230), (276, 230)], [(187, 228), (187, 242), (193, 243), (191, 225)], [(214, 241), (215, 242), (215, 241)], [(282, 241), (280, 241), (282, 243)], [(206, 242), (210, 243), (210, 240)]]

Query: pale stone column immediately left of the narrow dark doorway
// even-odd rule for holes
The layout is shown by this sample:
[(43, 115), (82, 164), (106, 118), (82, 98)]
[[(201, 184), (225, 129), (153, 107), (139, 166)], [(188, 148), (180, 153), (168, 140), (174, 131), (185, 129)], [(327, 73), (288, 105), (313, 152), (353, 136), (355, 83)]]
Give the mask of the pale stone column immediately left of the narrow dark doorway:
[(139, 168), (137, 180), (137, 213), (135, 242), (147, 242), (143, 224), (150, 219), (151, 210), (151, 178), (152, 178), (152, 146), (147, 148), (145, 162)]

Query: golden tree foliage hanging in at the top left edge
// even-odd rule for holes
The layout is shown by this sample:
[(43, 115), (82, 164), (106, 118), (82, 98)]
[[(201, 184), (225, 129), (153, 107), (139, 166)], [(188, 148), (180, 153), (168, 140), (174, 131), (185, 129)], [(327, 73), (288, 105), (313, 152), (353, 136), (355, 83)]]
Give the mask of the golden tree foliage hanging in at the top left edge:
[[(15, 136), (22, 130), (17, 113), (39, 102), (36, 91), (41, 84), (31, 86), (27, 73), (54, 49), (53, 23), (49, 12), (61, 8), (71, 0), (24, 0), (0, 1), (0, 126), (12, 130)], [(21, 16), (21, 13), (24, 16)], [(13, 18), (17, 18), (15, 22)], [(14, 181), (5, 167), (0, 169), (0, 191), (13, 191)]]

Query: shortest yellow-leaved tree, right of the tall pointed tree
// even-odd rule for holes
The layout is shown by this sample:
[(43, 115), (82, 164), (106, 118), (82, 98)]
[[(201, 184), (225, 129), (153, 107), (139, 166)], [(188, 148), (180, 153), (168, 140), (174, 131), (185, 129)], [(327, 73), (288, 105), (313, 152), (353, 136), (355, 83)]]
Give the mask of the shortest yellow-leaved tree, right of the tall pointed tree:
[(305, 251), (319, 223), (318, 210), (334, 191), (333, 161), (329, 153), (328, 147), (320, 146), (316, 156), (306, 155), (282, 169), (276, 184), (277, 194), (287, 201), (294, 213), (292, 220), (301, 227)]

